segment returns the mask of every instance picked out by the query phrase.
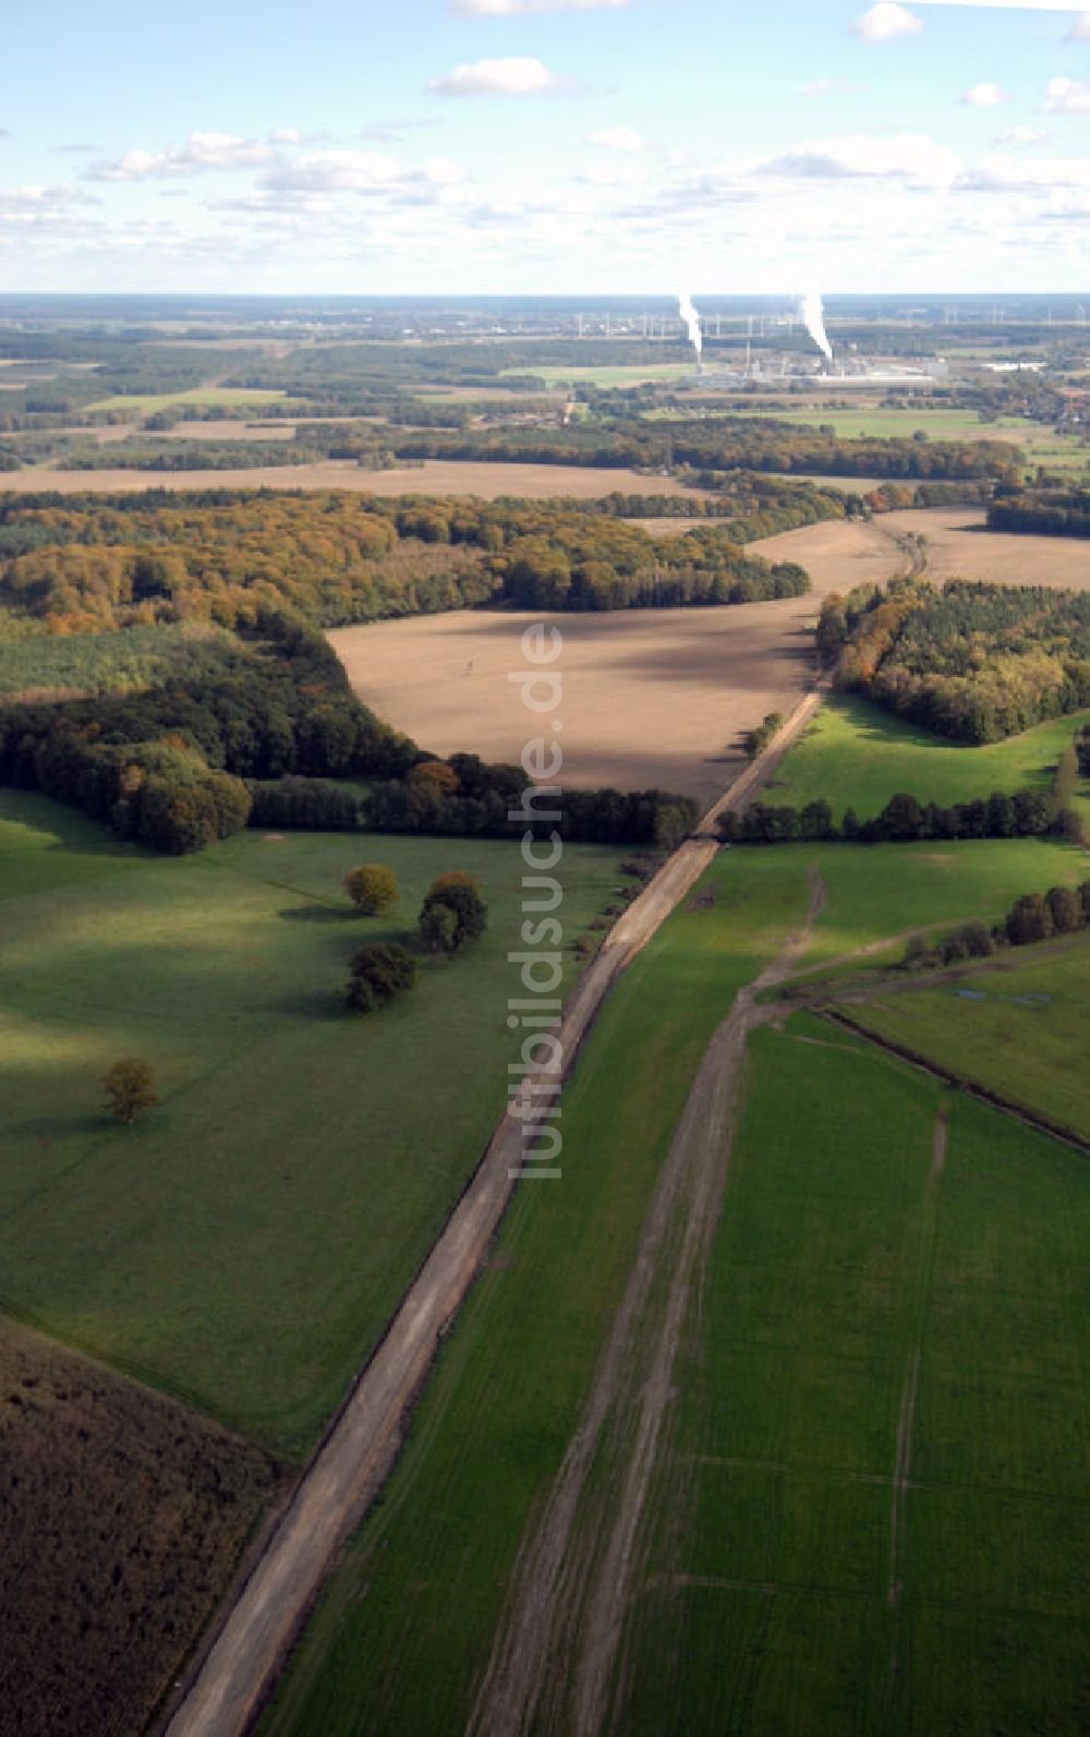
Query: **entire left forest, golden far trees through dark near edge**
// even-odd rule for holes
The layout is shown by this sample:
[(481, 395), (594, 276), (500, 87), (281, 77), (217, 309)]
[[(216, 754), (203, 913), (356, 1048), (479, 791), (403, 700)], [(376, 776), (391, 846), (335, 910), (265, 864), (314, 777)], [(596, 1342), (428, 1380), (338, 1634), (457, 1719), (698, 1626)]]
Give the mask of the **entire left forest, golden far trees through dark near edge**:
[[(687, 545), (682, 549), (680, 545)], [(462, 500), (123, 495), (0, 500), (0, 782), (40, 789), (154, 849), (246, 825), (502, 837), (521, 769), (437, 761), (352, 695), (319, 632), (342, 620), (502, 603), (739, 601), (809, 585), (708, 523), (668, 545), (611, 514)], [(116, 657), (111, 657), (111, 641)], [(127, 691), (128, 690), (128, 691)], [(330, 780), (366, 782), (347, 792)], [(654, 844), (694, 806), (569, 794), (561, 832)]]

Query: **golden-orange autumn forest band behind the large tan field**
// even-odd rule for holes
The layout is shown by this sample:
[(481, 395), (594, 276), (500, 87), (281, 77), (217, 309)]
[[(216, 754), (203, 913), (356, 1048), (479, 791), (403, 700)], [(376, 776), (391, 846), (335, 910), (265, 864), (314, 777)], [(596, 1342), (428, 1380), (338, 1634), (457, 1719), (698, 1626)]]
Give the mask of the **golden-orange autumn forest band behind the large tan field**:
[[(597, 504), (592, 504), (597, 507)], [(158, 622), (252, 627), (292, 608), (330, 627), (472, 604), (573, 610), (798, 596), (793, 563), (743, 538), (837, 518), (833, 499), (738, 497), (738, 519), (656, 540), (562, 502), (347, 493), (0, 495), (3, 617), (50, 632)]]

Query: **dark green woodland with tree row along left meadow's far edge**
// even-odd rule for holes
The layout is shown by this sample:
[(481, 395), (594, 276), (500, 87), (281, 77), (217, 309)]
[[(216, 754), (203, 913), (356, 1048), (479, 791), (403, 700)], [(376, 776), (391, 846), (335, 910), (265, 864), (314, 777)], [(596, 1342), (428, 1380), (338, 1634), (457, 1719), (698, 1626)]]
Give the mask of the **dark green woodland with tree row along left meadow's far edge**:
[[(170, 855), (248, 823), (550, 832), (552, 820), (519, 806), (528, 782), (517, 766), (441, 761), (397, 735), (354, 697), (321, 634), (286, 613), (262, 615), (245, 639), (191, 646), (182, 670), (142, 693), (0, 705), (0, 783), (43, 790)], [(673, 844), (694, 820), (693, 801), (661, 790), (583, 790), (564, 794), (557, 830)]]

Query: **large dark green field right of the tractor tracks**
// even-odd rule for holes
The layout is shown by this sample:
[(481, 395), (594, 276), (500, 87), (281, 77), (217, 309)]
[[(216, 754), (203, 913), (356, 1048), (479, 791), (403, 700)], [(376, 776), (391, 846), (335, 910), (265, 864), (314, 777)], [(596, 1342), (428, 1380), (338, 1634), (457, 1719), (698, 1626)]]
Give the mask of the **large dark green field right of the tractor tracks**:
[(1076, 1153), (875, 1051), (757, 1035), (620, 1728), (1083, 1728), (1088, 1228)]

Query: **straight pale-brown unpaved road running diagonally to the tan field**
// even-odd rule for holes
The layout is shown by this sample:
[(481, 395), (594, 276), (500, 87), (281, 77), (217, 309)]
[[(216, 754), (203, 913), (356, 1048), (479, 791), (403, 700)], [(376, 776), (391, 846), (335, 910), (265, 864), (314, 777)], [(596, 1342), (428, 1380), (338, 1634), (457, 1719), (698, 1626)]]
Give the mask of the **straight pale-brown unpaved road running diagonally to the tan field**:
[[(609, 931), (564, 1013), (559, 1037), (566, 1072), (616, 978), (713, 860), (715, 816), (753, 796), (819, 703), (819, 690), (800, 700), (767, 752), (743, 771), (708, 811), (699, 834), (663, 863)], [(394, 1463), (403, 1421), (439, 1337), (465, 1298), (510, 1200), (524, 1159), (519, 1112), (524, 1112), (538, 1079), (543, 1075), (526, 1077), (385, 1337), (358, 1376), (257, 1563), (213, 1629), (210, 1645), (167, 1716), (167, 1737), (238, 1737), (269, 1694), (337, 1551)]]

